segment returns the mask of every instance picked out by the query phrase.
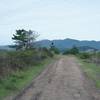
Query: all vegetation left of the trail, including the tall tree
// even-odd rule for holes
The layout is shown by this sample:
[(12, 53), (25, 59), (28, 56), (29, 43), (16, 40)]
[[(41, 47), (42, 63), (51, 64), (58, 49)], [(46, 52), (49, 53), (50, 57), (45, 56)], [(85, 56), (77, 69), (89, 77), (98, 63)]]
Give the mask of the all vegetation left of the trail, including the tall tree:
[(0, 51), (0, 100), (20, 91), (52, 62), (55, 47), (36, 47), (38, 36), (35, 31), (17, 30), (12, 37), (13, 50)]

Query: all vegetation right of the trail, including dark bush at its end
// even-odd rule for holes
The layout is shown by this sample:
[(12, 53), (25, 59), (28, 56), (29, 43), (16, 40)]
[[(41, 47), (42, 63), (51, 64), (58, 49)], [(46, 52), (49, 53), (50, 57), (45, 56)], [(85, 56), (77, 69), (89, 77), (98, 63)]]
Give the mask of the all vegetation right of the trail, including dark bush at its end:
[(66, 50), (64, 55), (75, 55), (81, 62), (81, 68), (87, 77), (100, 89), (100, 52), (80, 52), (77, 47)]

